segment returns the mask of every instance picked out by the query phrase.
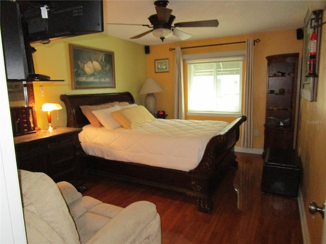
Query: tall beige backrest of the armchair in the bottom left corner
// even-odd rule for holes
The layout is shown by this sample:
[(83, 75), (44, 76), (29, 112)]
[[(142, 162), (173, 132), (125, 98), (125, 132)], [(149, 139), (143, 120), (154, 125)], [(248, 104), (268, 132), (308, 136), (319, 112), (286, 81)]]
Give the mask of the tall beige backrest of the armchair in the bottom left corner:
[(55, 182), (44, 173), (19, 170), (29, 243), (80, 243), (73, 219)]

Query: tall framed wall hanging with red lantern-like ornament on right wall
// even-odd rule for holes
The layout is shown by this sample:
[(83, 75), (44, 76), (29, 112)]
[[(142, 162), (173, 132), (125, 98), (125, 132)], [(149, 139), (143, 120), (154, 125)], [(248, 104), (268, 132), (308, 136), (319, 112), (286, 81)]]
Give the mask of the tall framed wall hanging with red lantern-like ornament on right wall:
[(316, 101), (322, 10), (308, 10), (305, 17), (301, 97)]

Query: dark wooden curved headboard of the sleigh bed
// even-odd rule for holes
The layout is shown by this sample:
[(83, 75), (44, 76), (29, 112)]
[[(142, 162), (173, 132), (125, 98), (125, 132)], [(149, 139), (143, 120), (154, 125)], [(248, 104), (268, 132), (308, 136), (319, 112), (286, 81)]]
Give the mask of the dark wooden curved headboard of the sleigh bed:
[(105, 93), (105, 94), (80, 94), (61, 95), (60, 100), (64, 102), (67, 111), (67, 127), (82, 128), (90, 124), (79, 106), (98, 105), (113, 102), (134, 103), (134, 99), (129, 92)]

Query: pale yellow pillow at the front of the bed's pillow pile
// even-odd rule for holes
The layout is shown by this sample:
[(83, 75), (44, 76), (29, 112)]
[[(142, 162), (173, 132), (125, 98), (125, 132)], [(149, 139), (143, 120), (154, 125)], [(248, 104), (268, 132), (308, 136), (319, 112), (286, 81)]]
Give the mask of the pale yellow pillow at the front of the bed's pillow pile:
[(112, 112), (112, 115), (126, 129), (133, 129), (156, 120), (156, 118), (141, 105)]

